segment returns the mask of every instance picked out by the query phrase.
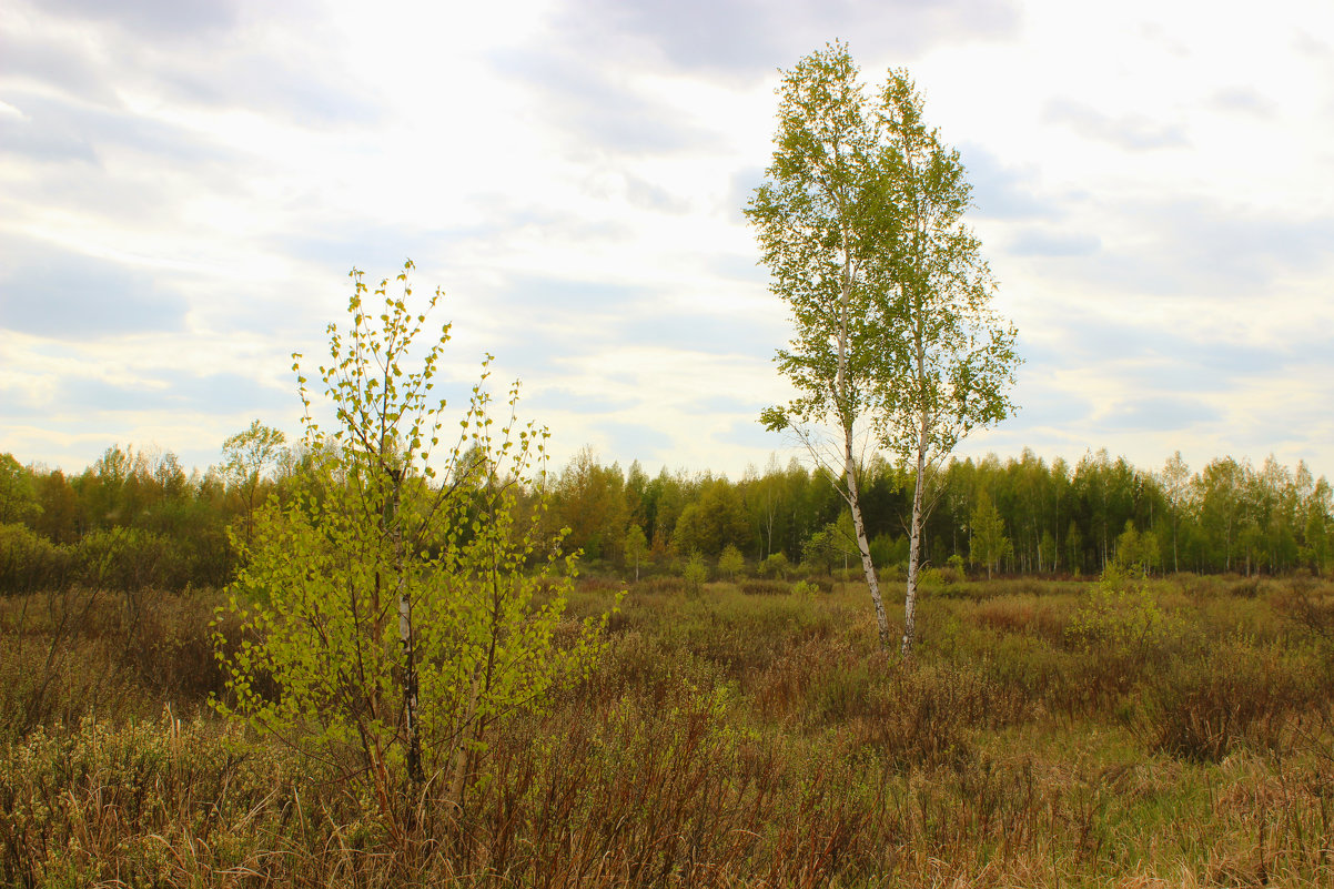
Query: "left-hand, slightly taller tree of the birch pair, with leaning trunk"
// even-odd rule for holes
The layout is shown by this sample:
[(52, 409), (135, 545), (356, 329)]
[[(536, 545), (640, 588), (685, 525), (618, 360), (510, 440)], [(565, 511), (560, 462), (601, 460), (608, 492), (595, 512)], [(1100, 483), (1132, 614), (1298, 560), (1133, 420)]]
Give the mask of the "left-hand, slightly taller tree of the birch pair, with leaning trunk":
[(788, 430), (826, 470), (852, 515), (880, 643), (890, 626), (862, 521), (859, 434), (887, 370), (872, 315), (887, 271), (895, 215), (884, 204), (879, 133), (858, 69), (842, 44), (802, 59), (783, 75), (779, 127), (767, 179), (746, 214), (755, 227), (771, 290), (791, 311), (795, 335), (775, 358), (799, 395), (767, 408), (770, 430)]

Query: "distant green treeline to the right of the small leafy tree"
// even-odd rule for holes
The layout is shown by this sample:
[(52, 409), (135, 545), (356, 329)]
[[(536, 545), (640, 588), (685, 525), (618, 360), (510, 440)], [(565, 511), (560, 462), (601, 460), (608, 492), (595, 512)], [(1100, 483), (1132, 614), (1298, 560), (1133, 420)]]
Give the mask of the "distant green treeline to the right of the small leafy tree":
[[(904, 563), (911, 475), (872, 458), (859, 486), (876, 566)], [(923, 551), (935, 566), (984, 570), (990, 555), (999, 570), (1023, 574), (1098, 573), (1118, 559), (1150, 571), (1334, 569), (1334, 498), (1305, 463), (1291, 470), (1270, 458), (1255, 469), (1226, 457), (1191, 474), (1175, 455), (1151, 473), (1105, 450), (1071, 466), (1026, 449), (1005, 462), (951, 461), (928, 490), (935, 507)], [(1002, 539), (982, 554), (974, 535), (991, 525), (988, 511)], [(638, 462), (622, 471), (583, 451), (556, 481), (555, 515), (594, 559), (622, 561), (635, 526), (659, 563), (690, 551), (718, 557), (728, 546), (760, 566), (778, 557), (830, 569), (858, 558), (834, 486), (795, 458), (787, 466), (771, 458), (763, 474), (748, 470), (731, 482), (667, 470), (650, 478)]]

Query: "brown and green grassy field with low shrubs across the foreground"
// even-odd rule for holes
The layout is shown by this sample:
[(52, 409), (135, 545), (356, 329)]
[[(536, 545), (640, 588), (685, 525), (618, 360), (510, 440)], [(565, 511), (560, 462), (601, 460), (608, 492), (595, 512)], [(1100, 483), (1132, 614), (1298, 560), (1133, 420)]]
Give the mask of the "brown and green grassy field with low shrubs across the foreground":
[(0, 882), (1334, 884), (1334, 585), (940, 585), (910, 662), (864, 585), (790, 586), (631, 585), (407, 832), (204, 706), (220, 595), (0, 601)]

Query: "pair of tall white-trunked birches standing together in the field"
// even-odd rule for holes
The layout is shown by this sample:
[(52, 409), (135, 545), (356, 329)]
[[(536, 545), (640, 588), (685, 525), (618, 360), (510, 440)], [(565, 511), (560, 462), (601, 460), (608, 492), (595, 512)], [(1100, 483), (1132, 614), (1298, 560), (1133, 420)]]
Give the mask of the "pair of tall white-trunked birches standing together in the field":
[[(795, 336), (779, 372), (799, 395), (764, 411), (830, 470), (847, 502), (875, 605), (888, 622), (858, 485), (860, 431), (912, 470), (903, 654), (912, 650), (931, 477), (972, 428), (1007, 416), (1015, 330), (963, 224), (971, 188), (955, 150), (922, 119), (903, 71), (867, 97), (842, 43), (802, 59), (779, 87), (767, 180), (747, 215)], [(831, 430), (824, 435), (823, 430)]]

